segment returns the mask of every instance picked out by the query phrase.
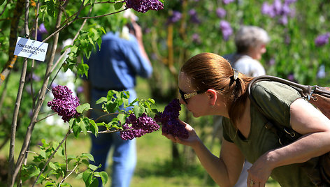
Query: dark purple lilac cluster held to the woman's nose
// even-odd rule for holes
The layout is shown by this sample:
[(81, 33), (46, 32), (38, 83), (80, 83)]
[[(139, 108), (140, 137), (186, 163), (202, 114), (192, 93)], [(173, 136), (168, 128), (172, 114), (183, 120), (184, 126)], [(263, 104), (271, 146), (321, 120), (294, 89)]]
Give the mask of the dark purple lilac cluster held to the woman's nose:
[(164, 109), (164, 112), (159, 112), (159, 114), (155, 116), (155, 121), (162, 124), (163, 133), (187, 139), (189, 137), (189, 133), (187, 129), (185, 129), (185, 126), (180, 124), (178, 121), (180, 110), (181, 107), (179, 100), (174, 99), (171, 103), (168, 103)]

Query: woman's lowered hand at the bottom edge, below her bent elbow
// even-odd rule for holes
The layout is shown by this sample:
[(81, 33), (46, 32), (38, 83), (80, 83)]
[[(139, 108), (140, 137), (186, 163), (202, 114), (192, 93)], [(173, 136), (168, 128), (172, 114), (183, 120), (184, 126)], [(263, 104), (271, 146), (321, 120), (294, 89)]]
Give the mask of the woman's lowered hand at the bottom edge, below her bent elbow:
[(268, 162), (267, 153), (259, 157), (257, 161), (250, 167), (247, 176), (247, 187), (257, 186), (264, 187), (266, 181), (271, 176), (273, 168)]

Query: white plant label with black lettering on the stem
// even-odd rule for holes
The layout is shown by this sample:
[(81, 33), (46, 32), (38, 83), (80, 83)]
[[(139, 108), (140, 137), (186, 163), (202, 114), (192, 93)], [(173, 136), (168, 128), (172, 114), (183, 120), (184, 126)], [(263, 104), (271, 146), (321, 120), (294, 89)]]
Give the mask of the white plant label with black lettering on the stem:
[(47, 49), (48, 43), (18, 37), (14, 54), (20, 57), (45, 61)]

